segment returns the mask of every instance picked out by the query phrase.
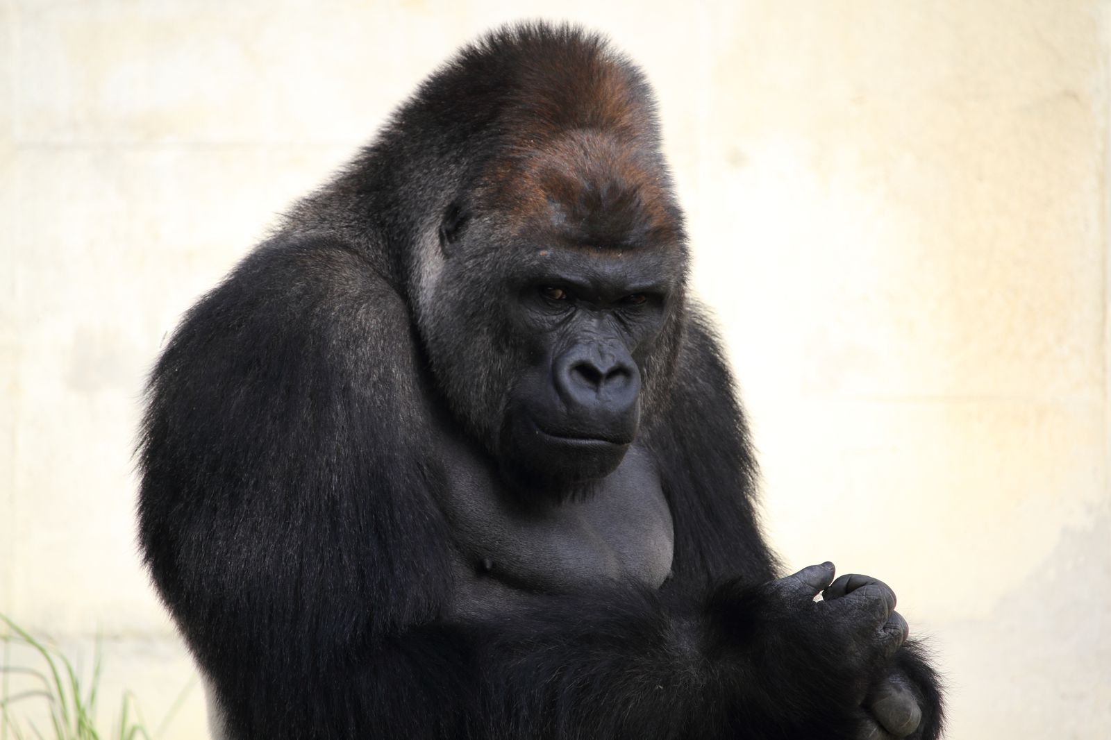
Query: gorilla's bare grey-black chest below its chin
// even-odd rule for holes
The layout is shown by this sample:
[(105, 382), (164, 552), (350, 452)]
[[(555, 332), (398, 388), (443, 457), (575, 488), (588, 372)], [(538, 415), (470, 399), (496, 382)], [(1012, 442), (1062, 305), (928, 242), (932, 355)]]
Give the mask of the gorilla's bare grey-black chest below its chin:
[(457, 449), (440, 492), (456, 546), (457, 607), (489, 608), (529, 592), (634, 582), (671, 571), (671, 513), (648, 452), (633, 447), (583, 500), (522, 501), (469, 451)]

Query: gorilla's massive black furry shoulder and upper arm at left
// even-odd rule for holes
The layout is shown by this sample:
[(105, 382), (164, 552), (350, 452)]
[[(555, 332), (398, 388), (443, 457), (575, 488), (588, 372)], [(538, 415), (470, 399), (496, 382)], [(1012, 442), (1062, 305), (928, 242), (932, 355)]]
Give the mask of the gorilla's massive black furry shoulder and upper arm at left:
[(350, 737), (407, 701), (360, 687), (366, 667), (416, 706), (421, 671), (464, 664), (450, 636), (383, 642), (434, 619), (450, 582), (408, 327), (362, 257), (278, 240), (151, 373), (139, 536), (234, 737)]

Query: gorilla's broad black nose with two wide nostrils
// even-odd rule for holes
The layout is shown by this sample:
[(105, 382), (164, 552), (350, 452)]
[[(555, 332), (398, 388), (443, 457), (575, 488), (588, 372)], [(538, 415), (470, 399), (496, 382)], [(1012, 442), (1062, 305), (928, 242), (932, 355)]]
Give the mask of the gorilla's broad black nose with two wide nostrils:
[(632, 412), (640, 393), (640, 371), (624, 348), (573, 347), (557, 361), (554, 381), (572, 414), (602, 426)]

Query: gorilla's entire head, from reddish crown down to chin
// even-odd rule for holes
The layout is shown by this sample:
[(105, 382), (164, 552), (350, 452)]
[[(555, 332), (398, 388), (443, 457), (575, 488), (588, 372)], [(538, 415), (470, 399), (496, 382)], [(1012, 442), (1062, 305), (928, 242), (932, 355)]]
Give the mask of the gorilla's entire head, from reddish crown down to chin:
[(483, 130), (498, 133), (462, 147), (410, 284), (456, 416), (509, 478), (567, 493), (612, 472), (667, 400), (687, 252), (645, 82), (559, 32), (574, 54), (546, 53), (551, 29), (487, 41), (517, 52), (497, 54), (511, 72)]

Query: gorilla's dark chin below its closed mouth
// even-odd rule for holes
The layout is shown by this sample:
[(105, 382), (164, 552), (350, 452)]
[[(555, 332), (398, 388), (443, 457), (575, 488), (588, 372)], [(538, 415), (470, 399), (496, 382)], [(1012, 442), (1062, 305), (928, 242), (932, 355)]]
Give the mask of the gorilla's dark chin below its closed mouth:
[(631, 443), (546, 431), (520, 413), (502, 427), (498, 457), (516, 487), (565, 499), (589, 492), (592, 482), (617, 470)]

